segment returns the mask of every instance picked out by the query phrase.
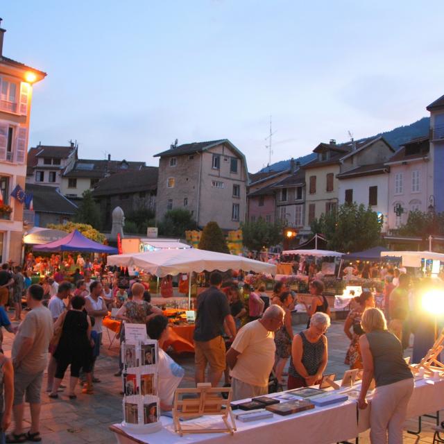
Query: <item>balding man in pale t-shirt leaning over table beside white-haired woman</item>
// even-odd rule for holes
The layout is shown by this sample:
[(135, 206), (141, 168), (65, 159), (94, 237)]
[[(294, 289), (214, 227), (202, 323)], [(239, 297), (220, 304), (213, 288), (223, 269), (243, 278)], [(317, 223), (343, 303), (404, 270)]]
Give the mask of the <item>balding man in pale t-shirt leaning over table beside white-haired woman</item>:
[(234, 401), (268, 392), (268, 377), (275, 363), (274, 332), (282, 327), (284, 316), (282, 307), (272, 305), (261, 319), (244, 325), (237, 333), (226, 356)]

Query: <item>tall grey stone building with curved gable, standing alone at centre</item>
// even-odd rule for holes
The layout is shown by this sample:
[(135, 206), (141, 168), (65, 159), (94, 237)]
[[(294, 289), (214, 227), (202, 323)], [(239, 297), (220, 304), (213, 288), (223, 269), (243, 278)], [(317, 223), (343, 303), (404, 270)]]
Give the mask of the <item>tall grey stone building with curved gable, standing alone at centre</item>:
[(228, 139), (193, 142), (158, 153), (156, 219), (185, 208), (198, 227), (216, 221), (237, 230), (246, 219), (248, 170), (243, 153)]

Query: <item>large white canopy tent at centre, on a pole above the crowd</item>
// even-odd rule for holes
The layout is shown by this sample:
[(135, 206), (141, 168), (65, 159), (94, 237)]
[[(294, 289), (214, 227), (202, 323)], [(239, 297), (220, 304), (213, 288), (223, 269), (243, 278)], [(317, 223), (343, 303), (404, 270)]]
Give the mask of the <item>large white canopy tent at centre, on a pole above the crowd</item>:
[(159, 250), (146, 253), (127, 253), (125, 255), (110, 255), (108, 265), (137, 266), (146, 273), (151, 273), (158, 278), (167, 275), (188, 273), (189, 293), (188, 301), (191, 302), (191, 273), (195, 271), (228, 271), (243, 270), (255, 273), (276, 273), (276, 266), (266, 262), (247, 259), (246, 257), (215, 253), (214, 251), (187, 248), (182, 250)]

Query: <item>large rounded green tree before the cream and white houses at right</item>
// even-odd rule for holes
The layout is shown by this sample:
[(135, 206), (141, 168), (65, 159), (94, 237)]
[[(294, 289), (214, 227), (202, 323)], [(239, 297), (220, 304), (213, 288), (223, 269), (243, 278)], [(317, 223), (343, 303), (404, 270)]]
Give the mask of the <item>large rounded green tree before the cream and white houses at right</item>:
[(377, 213), (356, 203), (339, 205), (336, 213), (322, 214), (311, 223), (313, 234), (324, 234), (328, 248), (343, 253), (377, 246), (381, 241), (381, 228)]

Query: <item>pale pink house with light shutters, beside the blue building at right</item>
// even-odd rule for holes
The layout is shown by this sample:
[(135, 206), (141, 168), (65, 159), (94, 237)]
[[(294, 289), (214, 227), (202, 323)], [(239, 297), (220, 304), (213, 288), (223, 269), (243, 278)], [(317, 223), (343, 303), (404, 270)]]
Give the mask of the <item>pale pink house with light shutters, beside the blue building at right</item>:
[[(407, 222), (409, 212), (427, 212), (432, 194), (433, 166), (429, 158), (429, 137), (407, 142), (386, 162), (388, 175), (388, 230)], [(395, 208), (402, 208), (397, 215)]]

